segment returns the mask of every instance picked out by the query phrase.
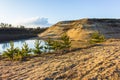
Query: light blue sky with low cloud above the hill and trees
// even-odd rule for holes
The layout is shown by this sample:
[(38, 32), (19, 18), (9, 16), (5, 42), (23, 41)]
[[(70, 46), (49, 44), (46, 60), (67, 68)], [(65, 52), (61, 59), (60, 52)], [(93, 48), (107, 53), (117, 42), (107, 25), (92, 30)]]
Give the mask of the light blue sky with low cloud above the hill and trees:
[(120, 0), (0, 0), (0, 22), (50, 26), (82, 18), (120, 18)]

